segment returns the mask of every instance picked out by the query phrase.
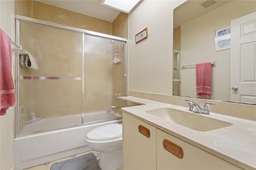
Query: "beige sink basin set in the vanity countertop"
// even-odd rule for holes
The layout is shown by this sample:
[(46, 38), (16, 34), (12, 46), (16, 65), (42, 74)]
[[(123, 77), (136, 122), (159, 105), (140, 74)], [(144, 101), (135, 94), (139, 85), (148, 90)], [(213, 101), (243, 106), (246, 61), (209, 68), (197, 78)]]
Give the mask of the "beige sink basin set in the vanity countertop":
[(190, 113), (172, 108), (153, 109), (146, 113), (202, 132), (233, 125), (226, 121), (200, 115), (200, 113)]

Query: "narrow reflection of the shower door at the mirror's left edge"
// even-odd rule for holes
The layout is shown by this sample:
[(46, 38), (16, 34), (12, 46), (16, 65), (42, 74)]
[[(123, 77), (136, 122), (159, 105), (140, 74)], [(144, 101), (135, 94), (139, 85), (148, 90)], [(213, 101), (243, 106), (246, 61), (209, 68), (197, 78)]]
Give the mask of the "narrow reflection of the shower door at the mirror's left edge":
[(173, 51), (173, 76), (172, 76), (173, 95), (180, 95), (180, 51)]

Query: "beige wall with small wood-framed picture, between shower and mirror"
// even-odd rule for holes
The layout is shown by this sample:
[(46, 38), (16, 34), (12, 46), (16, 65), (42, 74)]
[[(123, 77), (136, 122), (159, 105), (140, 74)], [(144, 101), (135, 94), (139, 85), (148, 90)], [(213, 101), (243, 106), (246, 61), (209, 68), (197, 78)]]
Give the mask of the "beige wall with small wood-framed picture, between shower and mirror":
[[(172, 94), (173, 9), (184, 1), (142, 1), (129, 15), (128, 88)], [(148, 28), (148, 38), (135, 35)]]

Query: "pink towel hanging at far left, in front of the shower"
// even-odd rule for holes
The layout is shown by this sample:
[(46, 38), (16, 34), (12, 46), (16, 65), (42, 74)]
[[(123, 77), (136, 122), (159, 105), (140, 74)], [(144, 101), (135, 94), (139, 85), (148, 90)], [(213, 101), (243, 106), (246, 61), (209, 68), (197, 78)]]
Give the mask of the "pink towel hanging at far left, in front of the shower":
[(0, 115), (5, 115), (8, 107), (16, 105), (11, 43), (11, 38), (0, 29)]

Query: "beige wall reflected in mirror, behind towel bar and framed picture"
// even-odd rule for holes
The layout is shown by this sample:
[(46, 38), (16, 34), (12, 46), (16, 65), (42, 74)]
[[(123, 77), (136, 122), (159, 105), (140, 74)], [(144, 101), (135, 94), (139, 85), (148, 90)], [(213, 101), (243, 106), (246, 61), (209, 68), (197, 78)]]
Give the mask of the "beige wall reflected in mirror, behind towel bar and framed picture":
[[(212, 99), (230, 101), (230, 49), (215, 51), (214, 31), (255, 12), (255, 7), (256, 1), (232, 1), (181, 26), (181, 65), (217, 60), (212, 67)], [(195, 69), (181, 69), (181, 75), (181, 95), (196, 97)]]

